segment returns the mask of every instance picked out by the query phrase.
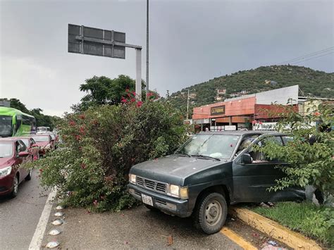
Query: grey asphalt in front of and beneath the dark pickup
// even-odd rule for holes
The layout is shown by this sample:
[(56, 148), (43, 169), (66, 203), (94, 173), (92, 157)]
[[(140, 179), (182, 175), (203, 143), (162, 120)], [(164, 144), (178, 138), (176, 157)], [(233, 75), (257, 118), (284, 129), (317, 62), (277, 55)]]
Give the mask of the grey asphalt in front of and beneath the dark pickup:
[[(67, 208), (60, 226), (51, 225), (55, 211), (53, 208), (49, 218), (43, 249), (52, 240), (61, 249), (242, 249), (221, 233), (205, 235), (194, 230), (189, 218), (152, 212), (144, 206), (119, 213)], [(52, 229), (61, 230), (61, 235), (47, 235)]]

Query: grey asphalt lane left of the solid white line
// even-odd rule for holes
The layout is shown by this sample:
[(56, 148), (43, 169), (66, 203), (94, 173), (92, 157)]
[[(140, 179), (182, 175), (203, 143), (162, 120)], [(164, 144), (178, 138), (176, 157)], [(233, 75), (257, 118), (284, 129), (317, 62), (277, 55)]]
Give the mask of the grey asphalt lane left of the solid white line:
[(0, 249), (27, 249), (42, 214), (47, 195), (39, 187), (37, 171), (21, 182), (14, 199), (0, 197)]

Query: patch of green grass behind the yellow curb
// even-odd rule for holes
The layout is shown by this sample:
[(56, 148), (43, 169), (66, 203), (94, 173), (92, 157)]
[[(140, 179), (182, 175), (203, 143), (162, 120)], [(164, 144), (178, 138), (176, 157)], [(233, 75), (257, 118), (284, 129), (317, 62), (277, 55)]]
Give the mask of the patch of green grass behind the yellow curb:
[(251, 209), (334, 249), (334, 208), (311, 203), (279, 202), (271, 208)]

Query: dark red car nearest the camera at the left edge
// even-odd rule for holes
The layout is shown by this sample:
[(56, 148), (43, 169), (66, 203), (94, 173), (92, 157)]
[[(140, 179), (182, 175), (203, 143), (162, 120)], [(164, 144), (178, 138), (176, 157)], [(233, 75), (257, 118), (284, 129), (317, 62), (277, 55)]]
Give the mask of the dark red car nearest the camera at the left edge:
[(32, 161), (31, 154), (20, 139), (0, 139), (0, 196), (18, 194), (18, 185), (31, 180), (32, 170), (20, 164)]

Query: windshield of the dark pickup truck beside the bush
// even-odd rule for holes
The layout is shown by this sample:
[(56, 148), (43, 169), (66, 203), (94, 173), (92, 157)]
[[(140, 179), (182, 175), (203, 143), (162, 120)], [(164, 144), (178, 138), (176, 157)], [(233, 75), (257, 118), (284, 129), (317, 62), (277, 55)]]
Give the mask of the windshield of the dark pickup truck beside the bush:
[(175, 153), (228, 159), (239, 138), (237, 135), (195, 135)]

